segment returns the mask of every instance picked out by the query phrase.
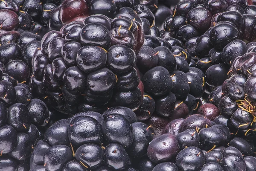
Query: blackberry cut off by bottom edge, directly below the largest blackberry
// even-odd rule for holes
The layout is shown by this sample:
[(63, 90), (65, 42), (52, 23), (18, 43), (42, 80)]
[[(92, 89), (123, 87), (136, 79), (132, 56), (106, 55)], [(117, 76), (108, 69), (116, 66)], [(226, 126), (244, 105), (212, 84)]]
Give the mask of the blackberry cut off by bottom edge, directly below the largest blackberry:
[(30, 171), (136, 171), (132, 164), (147, 153), (152, 134), (127, 107), (77, 113), (46, 130)]

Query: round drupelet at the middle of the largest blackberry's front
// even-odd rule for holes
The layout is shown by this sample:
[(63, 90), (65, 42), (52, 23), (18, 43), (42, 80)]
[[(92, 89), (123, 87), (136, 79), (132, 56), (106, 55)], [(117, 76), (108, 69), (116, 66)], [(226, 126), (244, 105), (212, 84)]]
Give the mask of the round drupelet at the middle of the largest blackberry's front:
[[(97, 53), (97, 55), (95, 55)], [(84, 46), (77, 52), (76, 63), (80, 70), (89, 73), (105, 66), (106, 52), (96, 46)]]

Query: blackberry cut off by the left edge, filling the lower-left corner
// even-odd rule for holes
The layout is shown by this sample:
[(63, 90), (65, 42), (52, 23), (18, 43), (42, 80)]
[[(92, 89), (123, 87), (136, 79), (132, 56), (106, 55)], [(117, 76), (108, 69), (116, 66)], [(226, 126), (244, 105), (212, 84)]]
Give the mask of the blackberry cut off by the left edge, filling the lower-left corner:
[[(49, 110), (40, 99), (32, 99), (26, 84), (0, 81), (0, 169), (29, 171), (29, 158), (49, 121)], [(16, 86), (13, 85), (16, 83)]]

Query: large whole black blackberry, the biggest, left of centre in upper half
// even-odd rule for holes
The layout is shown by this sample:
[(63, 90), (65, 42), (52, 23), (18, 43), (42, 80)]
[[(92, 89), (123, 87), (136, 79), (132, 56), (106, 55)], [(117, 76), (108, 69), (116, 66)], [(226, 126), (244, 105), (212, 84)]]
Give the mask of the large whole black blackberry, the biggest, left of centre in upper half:
[(120, 16), (111, 21), (102, 14), (48, 32), (32, 58), (33, 96), (67, 114), (102, 113), (111, 106), (136, 109), (142, 93), (135, 51), (142, 35), (136, 20)]

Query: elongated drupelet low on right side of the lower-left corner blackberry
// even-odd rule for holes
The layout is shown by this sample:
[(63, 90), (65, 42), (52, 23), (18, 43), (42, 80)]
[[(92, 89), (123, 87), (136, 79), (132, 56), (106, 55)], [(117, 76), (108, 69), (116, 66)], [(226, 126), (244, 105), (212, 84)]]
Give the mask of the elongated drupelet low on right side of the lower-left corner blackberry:
[(31, 153), (31, 141), (26, 133), (17, 133), (17, 144), (10, 153), (10, 156), (17, 160), (24, 160)]

